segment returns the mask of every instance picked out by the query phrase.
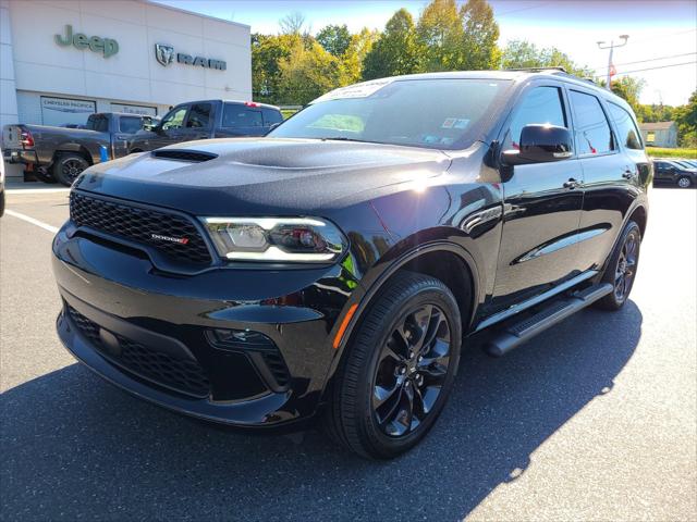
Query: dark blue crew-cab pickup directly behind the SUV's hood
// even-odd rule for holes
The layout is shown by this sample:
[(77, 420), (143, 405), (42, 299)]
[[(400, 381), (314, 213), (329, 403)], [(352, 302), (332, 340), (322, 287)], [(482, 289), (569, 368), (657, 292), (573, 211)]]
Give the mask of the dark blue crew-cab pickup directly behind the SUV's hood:
[(283, 121), (278, 107), (254, 101), (205, 100), (174, 107), (159, 125), (136, 134), (130, 152), (145, 152), (194, 139), (264, 136)]

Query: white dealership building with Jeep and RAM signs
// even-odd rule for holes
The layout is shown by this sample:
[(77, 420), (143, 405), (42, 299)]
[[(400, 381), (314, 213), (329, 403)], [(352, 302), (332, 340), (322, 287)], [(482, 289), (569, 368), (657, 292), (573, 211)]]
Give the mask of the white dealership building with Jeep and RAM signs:
[(252, 99), (248, 25), (147, 0), (0, 0), (0, 18), (2, 125)]

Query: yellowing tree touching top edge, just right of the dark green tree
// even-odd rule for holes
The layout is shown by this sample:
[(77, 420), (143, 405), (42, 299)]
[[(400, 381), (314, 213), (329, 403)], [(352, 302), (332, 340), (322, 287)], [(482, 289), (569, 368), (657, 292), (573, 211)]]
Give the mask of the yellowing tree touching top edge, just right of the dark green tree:
[(457, 70), (463, 33), (455, 0), (432, 0), (424, 9), (416, 26), (418, 41), (424, 50), (424, 70)]

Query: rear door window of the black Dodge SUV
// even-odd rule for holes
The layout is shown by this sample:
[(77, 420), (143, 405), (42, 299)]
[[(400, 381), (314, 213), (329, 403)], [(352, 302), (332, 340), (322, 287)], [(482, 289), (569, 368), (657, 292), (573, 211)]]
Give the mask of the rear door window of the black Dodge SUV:
[(614, 150), (612, 132), (598, 98), (571, 91), (578, 154), (604, 154)]

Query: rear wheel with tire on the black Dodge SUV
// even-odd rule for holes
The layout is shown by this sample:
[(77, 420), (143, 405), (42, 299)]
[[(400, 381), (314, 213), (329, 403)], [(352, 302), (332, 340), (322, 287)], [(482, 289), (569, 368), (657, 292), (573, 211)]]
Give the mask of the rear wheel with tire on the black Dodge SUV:
[[(634, 247), (631, 246), (632, 244)], [(617, 241), (602, 275), (601, 282), (610, 283), (612, 293), (596, 301), (596, 308), (614, 311), (624, 306), (634, 286), (640, 249), (641, 231), (639, 225), (631, 221), (625, 226), (622, 238)]]

